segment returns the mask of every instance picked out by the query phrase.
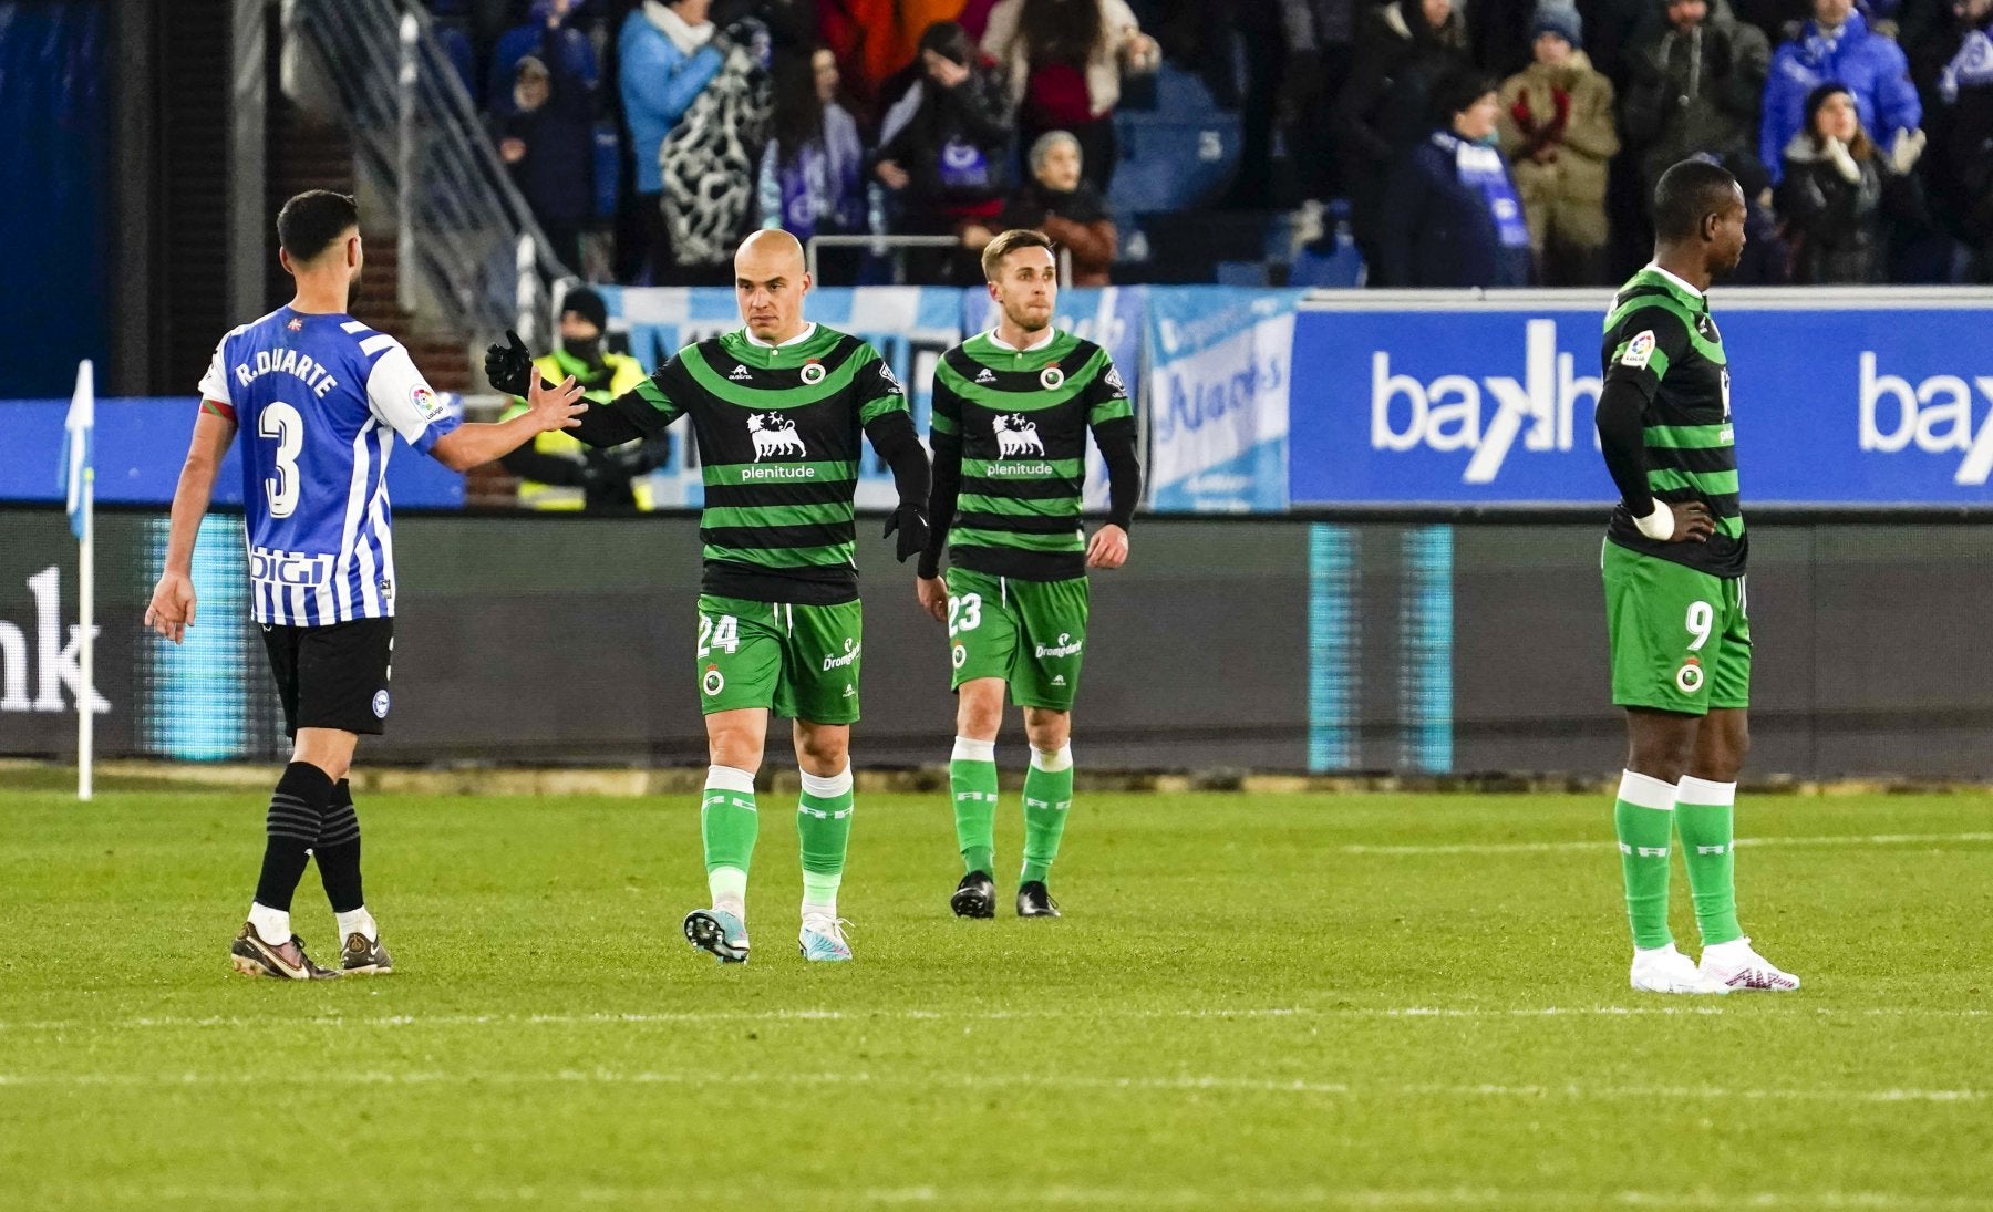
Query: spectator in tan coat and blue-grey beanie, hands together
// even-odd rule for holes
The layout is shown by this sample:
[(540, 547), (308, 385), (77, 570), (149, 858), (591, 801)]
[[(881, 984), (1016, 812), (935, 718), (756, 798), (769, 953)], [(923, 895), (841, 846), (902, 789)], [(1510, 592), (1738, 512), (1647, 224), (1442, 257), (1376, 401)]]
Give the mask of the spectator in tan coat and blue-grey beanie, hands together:
[(1576, 8), (1543, 6), (1531, 22), (1537, 60), (1503, 82), (1501, 148), (1529, 219), (1537, 283), (1606, 281), (1606, 175), (1618, 155), (1612, 82), (1584, 58)]

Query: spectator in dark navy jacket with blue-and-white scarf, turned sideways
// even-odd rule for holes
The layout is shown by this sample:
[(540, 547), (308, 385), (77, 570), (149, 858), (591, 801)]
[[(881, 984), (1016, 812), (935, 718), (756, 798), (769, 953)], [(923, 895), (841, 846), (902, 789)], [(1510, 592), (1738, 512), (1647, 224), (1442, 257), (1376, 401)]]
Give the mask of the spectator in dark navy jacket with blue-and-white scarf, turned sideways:
[(1439, 130), (1397, 161), (1383, 193), (1383, 281), (1393, 287), (1529, 285), (1529, 223), (1495, 146), (1501, 100), (1477, 72), (1433, 86)]

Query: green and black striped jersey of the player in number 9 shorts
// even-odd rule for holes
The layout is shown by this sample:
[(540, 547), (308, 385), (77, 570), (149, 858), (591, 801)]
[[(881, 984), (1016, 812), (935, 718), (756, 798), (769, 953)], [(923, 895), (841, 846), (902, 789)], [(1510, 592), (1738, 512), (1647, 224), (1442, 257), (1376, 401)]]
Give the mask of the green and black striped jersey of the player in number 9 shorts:
[(1640, 427), (1654, 498), (1700, 500), (1716, 520), (1708, 542), (1658, 542), (1640, 534), (1622, 500), (1606, 538), (1710, 576), (1744, 576), (1748, 540), (1730, 425), (1730, 359), (1708, 297), (1648, 265), (1612, 299), (1600, 357), (1608, 385), (1632, 383), (1646, 397)]

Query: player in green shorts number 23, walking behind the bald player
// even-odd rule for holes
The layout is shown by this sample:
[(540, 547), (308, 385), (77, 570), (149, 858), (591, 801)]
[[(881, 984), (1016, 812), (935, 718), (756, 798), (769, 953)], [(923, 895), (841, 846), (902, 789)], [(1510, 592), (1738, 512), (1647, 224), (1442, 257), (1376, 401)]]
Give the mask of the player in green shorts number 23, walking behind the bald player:
[[(1024, 708), (1020, 917), (1058, 917), (1046, 889), (1072, 811), (1072, 700), (1086, 654), (1086, 570), (1120, 568), (1142, 492), (1134, 413), (1120, 373), (1092, 341), (1052, 329), (1058, 269), (1038, 231), (1004, 231), (983, 251), (1002, 319), (935, 369), (933, 532), (915, 594), (949, 626), (959, 696), (949, 789), (963, 879), (957, 917), (995, 917), (996, 732), (1002, 700)], [(1108, 466), (1108, 522), (1086, 540), (1086, 435)], [(941, 576), (941, 550), (951, 568)]]

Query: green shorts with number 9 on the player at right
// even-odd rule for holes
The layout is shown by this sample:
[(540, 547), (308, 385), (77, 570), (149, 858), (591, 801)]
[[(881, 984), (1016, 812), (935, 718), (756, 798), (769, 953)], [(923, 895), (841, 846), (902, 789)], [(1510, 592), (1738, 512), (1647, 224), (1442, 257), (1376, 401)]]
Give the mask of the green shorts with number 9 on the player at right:
[(1704, 716), (1750, 706), (1744, 578), (1642, 556), (1606, 542), (1612, 704)]

